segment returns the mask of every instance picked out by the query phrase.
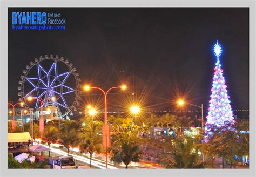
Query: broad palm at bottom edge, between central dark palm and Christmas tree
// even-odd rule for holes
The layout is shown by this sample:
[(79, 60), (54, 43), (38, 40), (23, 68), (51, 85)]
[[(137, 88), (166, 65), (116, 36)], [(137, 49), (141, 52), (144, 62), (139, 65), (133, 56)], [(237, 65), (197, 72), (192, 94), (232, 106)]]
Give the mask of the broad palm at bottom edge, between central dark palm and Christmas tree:
[(202, 162), (198, 162), (198, 155), (193, 151), (192, 139), (179, 139), (174, 146), (173, 159), (165, 168), (204, 168)]

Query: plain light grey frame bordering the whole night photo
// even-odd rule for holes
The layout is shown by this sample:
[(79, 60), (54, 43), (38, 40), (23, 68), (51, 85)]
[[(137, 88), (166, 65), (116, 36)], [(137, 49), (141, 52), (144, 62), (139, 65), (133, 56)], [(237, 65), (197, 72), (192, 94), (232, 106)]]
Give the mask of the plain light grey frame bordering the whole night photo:
[[(147, 176), (255, 176), (255, 103), (252, 100), (255, 98), (255, 1), (254, 0), (240, 0), (240, 1), (228, 1), (228, 0), (209, 0), (209, 1), (168, 1), (168, 0), (86, 0), (86, 1), (1, 1), (1, 76), (0, 77), (0, 95), (1, 95), (1, 109), (0, 115), (2, 122), (0, 124), (0, 176), (45, 176), (45, 175), (61, 175), (61, 176), (133, 176), (133, 175), (147, 175)], [(65, 169), (55, 171), (53, 169), (8, 169), (7, 168), (7, 121), (5, 117), (7, 115), (7, 82), (8, 82), (8, 7), (248, 7), (250, 8), (250, 169), (129, 169), (127, 172), (125, 169), (118, 170), (105, 170), (105, 169), (90, 169), (90, 170), (72, 170)], [(253, 92), (254, 91), (254, 92)]]

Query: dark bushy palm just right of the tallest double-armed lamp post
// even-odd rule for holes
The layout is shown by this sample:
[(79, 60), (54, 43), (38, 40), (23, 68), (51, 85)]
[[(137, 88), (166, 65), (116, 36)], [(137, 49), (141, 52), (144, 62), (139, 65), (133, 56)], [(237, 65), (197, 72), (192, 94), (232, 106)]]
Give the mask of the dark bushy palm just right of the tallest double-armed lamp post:
[(142, 154), (142, 151), (136, 142), (136, 137), (128, 133), (119, 134), (119, 139), (113, 143), (110, 152), (113, 154), (110, 161), (118, 164), (124, 162), (126, 169), (130, 162), (138, 162), (139, 155)]

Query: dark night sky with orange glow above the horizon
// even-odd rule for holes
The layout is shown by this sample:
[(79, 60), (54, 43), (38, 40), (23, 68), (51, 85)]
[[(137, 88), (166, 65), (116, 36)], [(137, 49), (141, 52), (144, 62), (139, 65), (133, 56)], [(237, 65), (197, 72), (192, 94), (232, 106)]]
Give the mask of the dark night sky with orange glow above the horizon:
[[(12, 11), (61, 13), (66, 30), (13, 31)], [(8, 100), (17, 101), (26, 65), (44, 55), (59, 55), (77, 68), (83, 83), (109, 88), (126, 83), (127, 94), (110, 105), (139, 100), (147, 110), (171, 109), (184, 97), (192, 104), (210, 100), (213, 44), (224, 52), (231, 105), (249, 106), (248, 8), (9, 8)], [(121, 72), (120, 71), (124, 71)], [(95, 92), (97, 93), (97, 92)], [(127, 98), (126, 98), (127, 97)], [(86, 101), (84, 101), (84, 104)], [(120, 106), (122, 107), (122, 106)]]

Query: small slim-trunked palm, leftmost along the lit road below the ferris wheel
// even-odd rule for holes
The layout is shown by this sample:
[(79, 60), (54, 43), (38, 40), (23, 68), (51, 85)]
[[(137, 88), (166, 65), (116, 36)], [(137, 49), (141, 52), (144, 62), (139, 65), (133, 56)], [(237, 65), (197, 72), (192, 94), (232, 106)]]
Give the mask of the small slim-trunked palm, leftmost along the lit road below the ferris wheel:
[(49, 147), (49, 156), (50, 156), (50, 145), (51, 143), (55, 142), (58, 138), (58, 132), (57, 128), (54, 126), (46, 126), (44, 130), (44, 140), (47, 142), (48, 147)]

